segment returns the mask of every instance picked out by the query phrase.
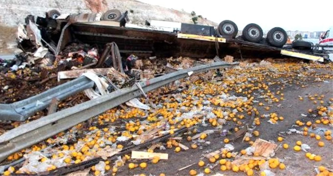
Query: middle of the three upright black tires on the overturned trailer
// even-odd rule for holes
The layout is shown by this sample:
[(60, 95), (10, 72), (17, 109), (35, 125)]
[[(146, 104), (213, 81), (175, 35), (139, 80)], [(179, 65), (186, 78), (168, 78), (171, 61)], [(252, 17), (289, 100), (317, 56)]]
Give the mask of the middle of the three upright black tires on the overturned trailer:
[(246, 41), (259, 43), (262, 40), (263, 32), (259, 25), (251, 23), (243, 29), (243, 38)]

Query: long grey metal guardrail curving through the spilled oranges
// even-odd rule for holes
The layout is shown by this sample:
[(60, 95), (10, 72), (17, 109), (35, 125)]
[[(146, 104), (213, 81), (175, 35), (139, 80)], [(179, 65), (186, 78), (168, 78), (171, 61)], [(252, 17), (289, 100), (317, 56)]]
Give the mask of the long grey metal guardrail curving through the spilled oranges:
[[(239, 63), (237, 62), (217, 62), (202, 65), (153, 78), (139, 84), (144, 92), (148, 92), (173, 81), (186, 78), (191, 74), (212, 69), (228, 68), (238, 64)], [(106, 110), (140, 95), (142, 95), (142, 91), (137, 86), (123, 88), (108, 95), (58, 111), (7, 131), (0, 136), (0, 161), (3, 161), (7, 156), (15, 152), (46, 140), (61, 131), (84, 122), (95, 115), (105, 112)]]

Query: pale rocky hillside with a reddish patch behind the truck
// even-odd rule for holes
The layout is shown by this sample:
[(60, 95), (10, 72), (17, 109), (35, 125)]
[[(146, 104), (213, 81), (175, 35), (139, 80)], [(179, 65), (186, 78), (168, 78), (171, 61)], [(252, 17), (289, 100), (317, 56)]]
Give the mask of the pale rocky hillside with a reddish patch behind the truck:
[[(29, 15), (45, 16), (45, 12), (56, 9), (60, 13), (104, 12), (108, 9), (129, 11), (130, 23), (144, 24), (145, 20), (165, 20), (193, 23), (188, 12), (154, 6), (135, 0), (0, 0), (0, 24), (16, 26)], [(198, 24), (217, 24), (198, 18)]]

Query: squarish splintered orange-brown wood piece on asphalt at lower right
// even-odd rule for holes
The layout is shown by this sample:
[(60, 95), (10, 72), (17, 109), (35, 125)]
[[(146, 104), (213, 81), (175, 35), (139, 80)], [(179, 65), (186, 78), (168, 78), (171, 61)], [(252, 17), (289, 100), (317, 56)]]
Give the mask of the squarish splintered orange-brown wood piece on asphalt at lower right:
[(272, 152), (274, 152), (277, 144), (259, 138), (254, 141), (252, 147), (255, 148), (254, 153), (258, 153), (259, 156), (267, 158)]

